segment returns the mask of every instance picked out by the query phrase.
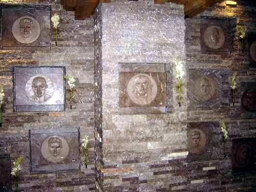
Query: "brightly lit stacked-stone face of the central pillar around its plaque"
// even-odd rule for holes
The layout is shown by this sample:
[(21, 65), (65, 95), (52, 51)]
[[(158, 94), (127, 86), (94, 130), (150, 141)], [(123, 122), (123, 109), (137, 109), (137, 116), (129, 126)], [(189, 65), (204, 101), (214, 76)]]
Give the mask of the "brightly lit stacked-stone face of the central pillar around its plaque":
[(103, 178), (96, 184), (98, 191), (185, 188), (186, 94), (179, 108), (175, 86), (168, 87), (173, 107), (166, 113), (145, 112), (143, 108), (142, 112), (139, 108), (128, 111), (119, 106), (119, 72), (123, 64), (144, 70), (151, 64), (164, 64), (173, 72), (169, 81), (176, 83), (174, 60), (179, 57), (184, 62), (185, 56), (183, 9), (183, 5), (158, 5), (153, 0), (111, 0), (98, 7), (96, 16), (102, 18), (102, 71), (96, 79), (102, 76), (103, 122), (103, 162), (97, 165)]

